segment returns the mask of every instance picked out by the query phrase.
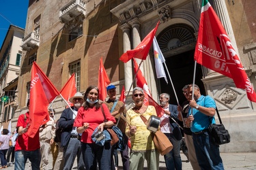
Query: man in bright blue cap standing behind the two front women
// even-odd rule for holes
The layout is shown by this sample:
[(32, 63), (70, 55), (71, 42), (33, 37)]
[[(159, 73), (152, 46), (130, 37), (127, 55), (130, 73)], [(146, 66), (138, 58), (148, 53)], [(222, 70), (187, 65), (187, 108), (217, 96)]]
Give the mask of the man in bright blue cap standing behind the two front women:
[[(126, 122), (122, 118), (119, 118), (120, 114), (126, 114), (126, 109), (122, 101), (117, 101), (116, 99), (117, 91), (114, 85), (107, 86), (106, 92), (109, 95), (109, 100), (104, 103), (106, 103), (107, 107), (109, 108), (111, 115), (115, 117), (116, 122), (118, 122), (118, 119), (119, 119), (119, 123), (117, 124), (117, 127), (122, 131), (124, 139), (126, 140), (126, 148), (123, 151), (121, 151), (121, 156), (122, 156), (122, 162), (123, 162), (123, 169), (128, 170), (130, 166), (129, 166), (129, 155), (128, 155), (128, 137), (125, 135)], [(115, 150), (115, 152), (117, 156), (117, 150)], [(113, 159), (113, 156), (111, 158)], [(115, 158), (115, 165), (116, 167), (118, 165), (118, 156), (117, 158)]]

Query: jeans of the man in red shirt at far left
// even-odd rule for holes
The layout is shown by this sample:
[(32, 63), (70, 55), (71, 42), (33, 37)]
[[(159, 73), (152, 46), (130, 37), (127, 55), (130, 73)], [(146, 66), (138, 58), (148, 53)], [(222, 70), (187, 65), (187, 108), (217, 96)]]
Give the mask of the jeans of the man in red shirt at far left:
[(40, 170), (41, 152), (40, 149), (33, 151), (17, 150), (15, 151), (15, 170), (24, 170), (25, 164), (29, 158), (32, 170)]

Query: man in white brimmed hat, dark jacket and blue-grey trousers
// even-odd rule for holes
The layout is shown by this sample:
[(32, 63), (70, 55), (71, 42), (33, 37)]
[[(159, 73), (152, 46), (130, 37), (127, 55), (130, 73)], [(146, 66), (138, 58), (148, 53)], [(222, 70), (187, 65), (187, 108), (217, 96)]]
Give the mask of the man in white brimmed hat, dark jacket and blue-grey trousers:
[(83, 95), (81, 92), (76, 92), (74, 97), (70, 98), (70, 102), (74, 106), (64, 109), (58, 122), (59, 128), (62, 129), (61, 147), (64, 148), (63, 161), (65, 163), (63, 169), (72, 169), (76, 156), (78, 169), (85, 169), (83, 154), (81, 154), (81, 135), (76, 132), (76, 127), (73, 127), (77, 111), (83, 104)]

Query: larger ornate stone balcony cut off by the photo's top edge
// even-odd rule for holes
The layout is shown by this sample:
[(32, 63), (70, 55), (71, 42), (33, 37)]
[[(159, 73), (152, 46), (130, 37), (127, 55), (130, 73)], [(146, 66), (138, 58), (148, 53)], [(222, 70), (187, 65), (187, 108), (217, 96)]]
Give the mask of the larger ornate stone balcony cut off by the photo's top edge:
[(85, 17), (85, 1), (73, 0), (59, 10), (59, 20), (61, 23), (68, 24), (71, 20), (74, 20), (77, 16), (83, 14)]

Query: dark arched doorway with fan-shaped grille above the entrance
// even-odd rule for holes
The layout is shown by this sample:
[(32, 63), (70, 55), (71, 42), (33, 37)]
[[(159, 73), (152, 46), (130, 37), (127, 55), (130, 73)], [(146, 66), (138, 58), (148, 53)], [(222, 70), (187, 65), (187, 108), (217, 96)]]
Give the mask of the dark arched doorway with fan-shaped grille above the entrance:
[[(173, 24), (163, 30), (157, 37), (158, 44), (165, 56), (165, 63), (171, 76), (173, 86), (177, 95), (177, 99), (180, 104), (186, 101), (186, 98), (182, 94), (182, 88), (186, 84), (193, 83), (193, 73), (195, 67), (194, 52), (196, 38), (195, 31), (187, 24)], [(165, 71), (167, 73), (167, 71)], [(166, 74), (167, 77), (168, 74)], [(205, 88), (203, 82), (203, 73), (201, 65), (196, 66), (195, 84), (197, 84), (201, 90), (201, 93), (205, 94)], [(170, 94), (171, 104), (177, 104), (175, 93), (169, 78), (167, 78), (168, 84), (164, 78), (160, 78), (160, 93), (167, 92)]]

